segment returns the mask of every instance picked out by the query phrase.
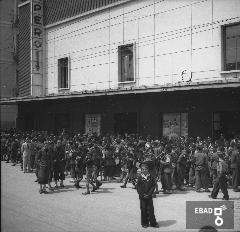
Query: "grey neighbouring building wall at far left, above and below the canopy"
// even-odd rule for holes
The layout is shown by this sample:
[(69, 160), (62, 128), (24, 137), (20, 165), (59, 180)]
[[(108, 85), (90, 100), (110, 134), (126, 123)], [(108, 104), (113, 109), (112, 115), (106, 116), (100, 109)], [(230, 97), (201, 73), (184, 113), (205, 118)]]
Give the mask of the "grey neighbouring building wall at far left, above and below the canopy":
[[(0, 98), (16, 96), (16, 4), (0, 1)], [(16, 117), (16, 105), (0, 105), (1, 128), (15, 127)]]

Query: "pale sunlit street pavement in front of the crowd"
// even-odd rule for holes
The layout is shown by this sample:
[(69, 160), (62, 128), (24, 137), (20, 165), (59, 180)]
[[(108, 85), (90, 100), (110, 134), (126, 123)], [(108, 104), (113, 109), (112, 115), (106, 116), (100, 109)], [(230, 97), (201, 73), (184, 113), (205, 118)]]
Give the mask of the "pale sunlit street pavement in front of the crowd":
[[(121, 189), (119, 183), (103, 183), (100, 190), (84, 196), (85, 183), (77, 190), (66, 178), (64, 189), (39, 194), (35, 179), (34, 173), (23, 173), (19, 165), (1, 162), (2, 232), (186, 231), (186, 201), (211, 201), (209, 193), (192, 190), (159, 194), (154, 208), (160, 228), (144, 229), (131, 184)], [(235, 206), (234, 231), (240, 231), (240, 194), (229, 189), (229, 195)], [(221, 200), (221, 192), (218, 197)]]

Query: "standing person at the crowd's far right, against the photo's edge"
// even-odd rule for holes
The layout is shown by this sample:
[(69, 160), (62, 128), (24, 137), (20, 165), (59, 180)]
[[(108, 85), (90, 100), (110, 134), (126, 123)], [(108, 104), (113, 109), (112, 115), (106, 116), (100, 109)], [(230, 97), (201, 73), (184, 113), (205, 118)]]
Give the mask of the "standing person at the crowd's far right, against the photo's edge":
[(240, 192), (238, 188), (240, 184), (240, 153), (237, 148), (236, 141), (232, 140), (231, 147), (231, 171), (232, 171), (232, 186), (234, 192)]

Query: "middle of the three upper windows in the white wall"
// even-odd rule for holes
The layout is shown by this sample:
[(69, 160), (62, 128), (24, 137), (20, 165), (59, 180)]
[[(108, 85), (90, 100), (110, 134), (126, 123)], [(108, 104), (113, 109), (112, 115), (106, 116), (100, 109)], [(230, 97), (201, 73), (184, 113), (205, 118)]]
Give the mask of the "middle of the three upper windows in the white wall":
[(134, 46), (118, 47), (119, 82), (134, 81)]

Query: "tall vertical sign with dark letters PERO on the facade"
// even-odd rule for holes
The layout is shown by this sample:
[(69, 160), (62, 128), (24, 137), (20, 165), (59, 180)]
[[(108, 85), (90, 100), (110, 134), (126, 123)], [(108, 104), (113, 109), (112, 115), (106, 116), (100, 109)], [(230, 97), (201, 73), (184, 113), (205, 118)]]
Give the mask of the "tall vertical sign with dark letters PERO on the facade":
[(41, 96), (43, 85), (43, 2), (31, 0), (31, 95)]

